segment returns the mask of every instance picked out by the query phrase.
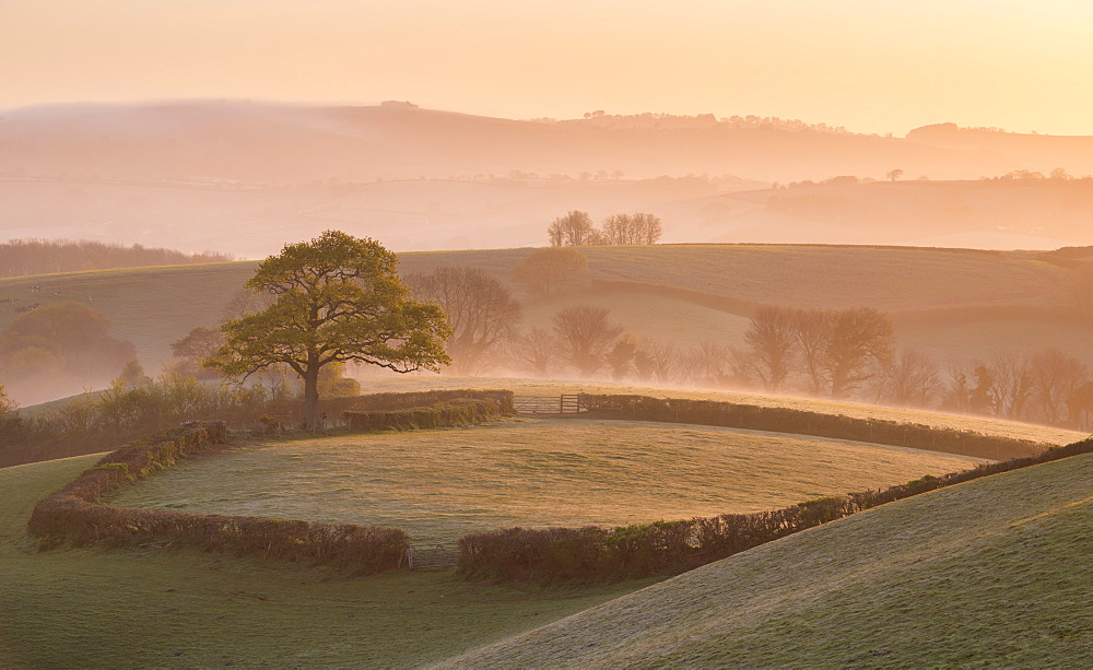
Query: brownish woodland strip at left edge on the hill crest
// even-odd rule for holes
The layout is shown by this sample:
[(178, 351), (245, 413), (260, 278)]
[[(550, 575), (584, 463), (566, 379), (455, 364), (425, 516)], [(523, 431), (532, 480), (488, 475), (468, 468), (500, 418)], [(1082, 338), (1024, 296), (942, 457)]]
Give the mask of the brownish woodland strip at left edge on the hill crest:
[(0, 243), (0, 277), (186, 266), (235, 260), (226, 254), (184, 254), (173, 249), (134, 244), (130, 247), (86, 239), (13, 239)]

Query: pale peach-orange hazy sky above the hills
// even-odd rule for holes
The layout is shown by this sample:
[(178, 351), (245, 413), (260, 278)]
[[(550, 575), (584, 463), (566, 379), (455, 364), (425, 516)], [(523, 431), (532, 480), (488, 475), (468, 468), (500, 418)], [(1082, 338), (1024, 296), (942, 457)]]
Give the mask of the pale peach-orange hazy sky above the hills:
[(1093, 3), (0, 0), (0, 108), (227, 97), (1093, 134)]

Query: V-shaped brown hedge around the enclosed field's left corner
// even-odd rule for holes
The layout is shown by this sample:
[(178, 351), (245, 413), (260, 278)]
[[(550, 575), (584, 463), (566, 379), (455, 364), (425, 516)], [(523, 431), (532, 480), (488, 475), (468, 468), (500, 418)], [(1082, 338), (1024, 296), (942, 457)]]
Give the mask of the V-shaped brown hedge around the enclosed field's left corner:
[(352, 574), (398, 567), (410, 537), (397, 528), (296, 519), (111, 507), (102, 499), (225, 438), (223, 423), (190, 424), (151, 444), (133, 443), (38, 503), (27, 528), (40, 549), (74, 545), (191, 546), (252, 557), (333, 565)]

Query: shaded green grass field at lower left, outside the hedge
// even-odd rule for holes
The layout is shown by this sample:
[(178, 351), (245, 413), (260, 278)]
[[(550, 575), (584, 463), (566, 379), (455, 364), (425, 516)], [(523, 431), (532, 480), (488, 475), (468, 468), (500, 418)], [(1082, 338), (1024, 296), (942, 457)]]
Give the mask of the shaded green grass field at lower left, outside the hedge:
[(559, 591), (186, 551), (37, 553), (33, 505), (96, 459), (0, 469), (0, 668), (409, 668), (649, 584)]

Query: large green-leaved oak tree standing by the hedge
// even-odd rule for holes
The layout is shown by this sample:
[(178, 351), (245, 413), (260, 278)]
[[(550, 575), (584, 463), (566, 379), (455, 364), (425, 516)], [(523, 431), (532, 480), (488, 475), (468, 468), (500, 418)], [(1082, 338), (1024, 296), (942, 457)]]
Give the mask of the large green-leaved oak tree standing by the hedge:
[(304, 380), (304, 420), (316, 424), (319, 371), (355, 361), (399, 373), (449, 363), (443, 310), (411, 299), (398, 258), (379, 243), (327, 231), (267, 258), (247, 287), (273, 301), (230, 319), (208, 362), (228, 377), (283, 363)]

